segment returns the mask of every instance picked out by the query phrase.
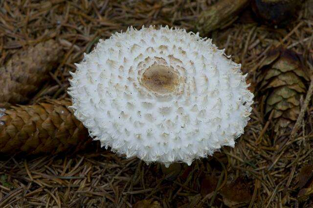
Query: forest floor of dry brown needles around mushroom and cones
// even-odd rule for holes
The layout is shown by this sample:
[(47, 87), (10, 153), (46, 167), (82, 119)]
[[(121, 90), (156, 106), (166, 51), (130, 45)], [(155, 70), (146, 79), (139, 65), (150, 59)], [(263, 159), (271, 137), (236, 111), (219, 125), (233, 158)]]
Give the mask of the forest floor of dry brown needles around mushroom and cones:
[[(30, 103), (65, 97), (68, 71), (99, 38), (129, 25), (169, 24), (190, 30), (213, 2), (0, 0), (0, 65), (22, 47), (57, 39), (66, 55)], [(254, 22), (246, 12), (227, 28), (207, 35), (243, 64), (253, 82), (271, 46), (293, 49), (313, 63), (313, 1), (307, 1), (297, 15), (286, 27), (274, 29)], [(119, 157), (97, 147), (97, 142), (75, 155), (3, 158), (0, 208), (127, 208), (144, 199), (154, 202), (155, 208), (312, 208), (312, 196), (298, 197), (301, 188), (312, 184), (313, 167), (308, 165), (313, 162), (312, 117), (310, 103), (295, 136), (291, 130), (278, 135), (270, 131), (270, 122), (266, 125), (256, 99), (245, 134), (234, 149), (223, 148), (189, 167), (174, 165), (173, 171)], [(307, 174), (305, 169), (300, 174), (302, 167)], [(135, 207), (143, 208), (143, 202)]]

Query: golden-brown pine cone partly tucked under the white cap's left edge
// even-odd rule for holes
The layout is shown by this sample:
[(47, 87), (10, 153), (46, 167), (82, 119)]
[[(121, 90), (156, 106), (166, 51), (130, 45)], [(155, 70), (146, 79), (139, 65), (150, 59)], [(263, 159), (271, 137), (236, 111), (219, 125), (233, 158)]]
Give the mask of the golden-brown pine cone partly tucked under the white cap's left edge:
[(84, 148), (91, 139), (69, 105), (70, 100), (50, 100), (2, 109), (0, 153), (58, 153)]

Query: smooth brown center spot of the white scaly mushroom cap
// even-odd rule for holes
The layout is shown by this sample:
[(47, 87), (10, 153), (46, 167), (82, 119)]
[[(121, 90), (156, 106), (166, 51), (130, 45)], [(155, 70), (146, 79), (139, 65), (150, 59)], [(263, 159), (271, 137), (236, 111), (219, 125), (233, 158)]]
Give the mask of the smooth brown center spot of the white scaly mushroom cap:
[(141, 84), (150, 91), (167, 94), (175, 91), (179, 76), (171, 67), (154, 64), (143, 72)]

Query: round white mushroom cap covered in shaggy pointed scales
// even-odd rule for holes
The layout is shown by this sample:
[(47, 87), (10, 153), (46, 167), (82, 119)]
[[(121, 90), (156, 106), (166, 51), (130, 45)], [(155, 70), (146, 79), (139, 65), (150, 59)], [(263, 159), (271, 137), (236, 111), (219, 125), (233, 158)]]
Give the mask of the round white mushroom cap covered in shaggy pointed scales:
[(234, 147), (252, 110), (241, 65), (184, 29), (130, 27), (76, 67), (74, 115), (101, 146), (147, 163), (191, 164)]

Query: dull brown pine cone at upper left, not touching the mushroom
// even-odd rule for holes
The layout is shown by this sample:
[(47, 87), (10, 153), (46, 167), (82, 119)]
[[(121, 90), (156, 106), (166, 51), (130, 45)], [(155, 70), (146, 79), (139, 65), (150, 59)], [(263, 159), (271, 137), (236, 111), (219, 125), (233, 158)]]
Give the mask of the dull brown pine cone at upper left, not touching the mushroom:
[(19, 50), (0, 68), (0, 107), (26, 103), (49, 78), (48, 72), (63, 55), (54, 40)]

